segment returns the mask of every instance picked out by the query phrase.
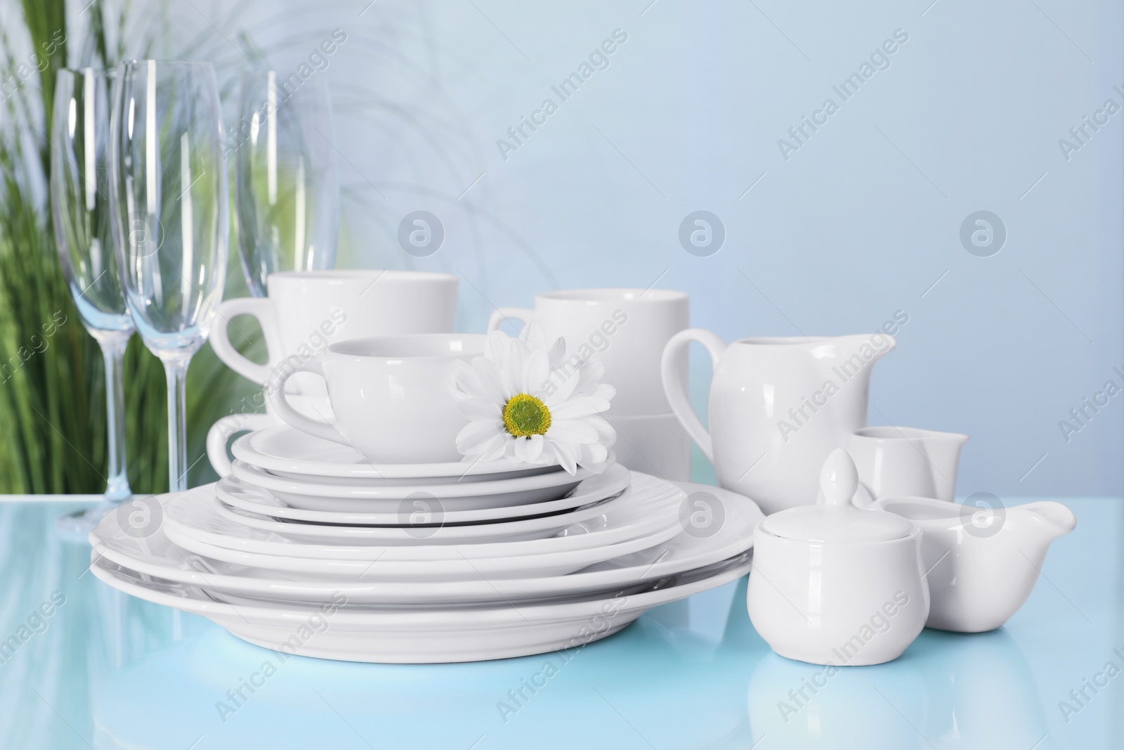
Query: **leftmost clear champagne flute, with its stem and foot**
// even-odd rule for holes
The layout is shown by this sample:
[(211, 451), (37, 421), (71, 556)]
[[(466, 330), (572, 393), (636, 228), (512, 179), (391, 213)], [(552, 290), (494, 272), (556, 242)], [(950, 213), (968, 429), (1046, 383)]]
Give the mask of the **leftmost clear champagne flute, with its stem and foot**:
[(62, 69), (51, 121), (51, 205), (55, 245), (82, 325), (106, 365), (109, 478), (106, 501), (61, 516), (60, 528), (85, 534), (132, 493), (125, 473), (121, 359), (133, 335), (125, 307), (109, 208), (109, 88), (112, 71)]

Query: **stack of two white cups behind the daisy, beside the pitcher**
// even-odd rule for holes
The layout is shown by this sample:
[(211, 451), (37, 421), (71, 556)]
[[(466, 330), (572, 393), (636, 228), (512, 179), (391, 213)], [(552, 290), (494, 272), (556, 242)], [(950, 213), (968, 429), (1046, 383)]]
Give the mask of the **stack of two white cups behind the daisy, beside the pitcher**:
[[(689, 325), (688, 296), (663, 289), (570, 289), (535, 296), (532, 309), (501, 307), (488, 331), (505, 320), (535, 320), (549, 340), (562, 336), (566, 359), (598, 356), (604, 382), (617, 389), (604, 416), (617, 431), (614, 451), (629, 469), (672, 481), (690, 477), (690, 439), (671, 410), (660, 380), (660, 358)], [(686, 382), (687, 362), (682, 368)]]

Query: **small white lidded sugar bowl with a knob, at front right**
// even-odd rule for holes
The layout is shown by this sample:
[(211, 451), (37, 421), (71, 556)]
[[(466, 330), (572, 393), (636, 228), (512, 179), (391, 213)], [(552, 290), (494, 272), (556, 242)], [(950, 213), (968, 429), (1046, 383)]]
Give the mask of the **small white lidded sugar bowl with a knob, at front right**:
[(773, 651), (815, 665), (878, 665), (901, 656), (925, 626), (928, 585), (921, 530), (854, 507), (854, 461), (824, 461), (823, 505), (776, 513), (753, 532), (750, 620)]

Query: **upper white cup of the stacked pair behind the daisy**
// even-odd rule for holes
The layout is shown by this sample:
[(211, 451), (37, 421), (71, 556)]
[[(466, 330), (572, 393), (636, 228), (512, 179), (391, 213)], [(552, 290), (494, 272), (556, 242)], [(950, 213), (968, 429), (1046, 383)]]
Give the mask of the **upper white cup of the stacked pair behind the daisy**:
[[(660, 356), (673, 335), (689, 325), (686, 292), (664, 289), (569, 289), (535, 295), (534, 309), (500, 307), (488, 320), (495, 331), (507, 319), (535, 320), (547, 338), (563, 336), (566, 356), (605, 362), (606, 382), (617, 389), (610, 414), (668, 414)], [(687, 364), (682, 364), (683, 378)]]

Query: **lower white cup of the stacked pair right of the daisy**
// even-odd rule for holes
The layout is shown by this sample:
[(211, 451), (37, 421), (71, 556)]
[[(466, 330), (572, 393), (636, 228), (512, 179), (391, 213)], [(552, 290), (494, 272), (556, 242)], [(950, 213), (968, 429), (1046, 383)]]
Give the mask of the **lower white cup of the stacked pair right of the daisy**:
[(690, 481), (691, 439), (674, 414), (635, 417), (606, 415), (617, 431), (617, 463), (669, 481)]

